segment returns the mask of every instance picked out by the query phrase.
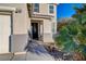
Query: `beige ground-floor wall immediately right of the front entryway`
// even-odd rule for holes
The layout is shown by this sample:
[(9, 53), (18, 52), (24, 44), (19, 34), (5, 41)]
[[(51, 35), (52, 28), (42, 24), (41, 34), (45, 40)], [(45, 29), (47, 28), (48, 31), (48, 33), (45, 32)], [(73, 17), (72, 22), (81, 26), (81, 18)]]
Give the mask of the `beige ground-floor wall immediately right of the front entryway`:
[(53, 42), (51, 23), (49, 20), (44, 20), (44, 42)]

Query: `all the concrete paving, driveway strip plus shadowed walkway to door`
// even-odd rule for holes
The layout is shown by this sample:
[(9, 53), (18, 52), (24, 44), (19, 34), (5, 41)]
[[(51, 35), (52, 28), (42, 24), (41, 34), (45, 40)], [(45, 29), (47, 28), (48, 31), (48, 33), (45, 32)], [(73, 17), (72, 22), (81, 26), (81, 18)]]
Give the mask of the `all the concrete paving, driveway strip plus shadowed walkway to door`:
[(35, 40), (29, 41), (25, 50), (26, 52), (2, 53), (0, 61), (54, 61), (44, 46)]

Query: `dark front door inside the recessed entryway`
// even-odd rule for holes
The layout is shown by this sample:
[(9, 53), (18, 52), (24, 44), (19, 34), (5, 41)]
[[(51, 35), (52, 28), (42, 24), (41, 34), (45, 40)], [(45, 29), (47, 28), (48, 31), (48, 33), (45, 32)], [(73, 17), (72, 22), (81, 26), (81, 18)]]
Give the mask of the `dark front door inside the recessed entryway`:
[(38, 23), (32, 23), (33, 39), (38, 40)]

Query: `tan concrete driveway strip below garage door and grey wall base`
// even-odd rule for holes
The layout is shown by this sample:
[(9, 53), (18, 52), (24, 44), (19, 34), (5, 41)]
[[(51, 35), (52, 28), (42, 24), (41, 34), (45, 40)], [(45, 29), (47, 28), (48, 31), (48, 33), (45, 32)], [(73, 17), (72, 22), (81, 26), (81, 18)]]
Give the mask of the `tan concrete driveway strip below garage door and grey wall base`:
[(26, 52), (0, 53), (0, 61), (25, 61)]

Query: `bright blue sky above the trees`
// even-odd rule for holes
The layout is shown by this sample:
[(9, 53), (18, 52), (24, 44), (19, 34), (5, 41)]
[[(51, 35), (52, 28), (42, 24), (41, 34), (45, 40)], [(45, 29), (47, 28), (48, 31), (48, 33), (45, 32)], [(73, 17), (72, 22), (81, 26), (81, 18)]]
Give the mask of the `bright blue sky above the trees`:
[(57, 11), (58, 11), (57, 17), (58, 18), (71, 17), (75, 13), (73, 7), (81, 8), (82, 4), (81, 3), (60, 3), (57, 7)]

